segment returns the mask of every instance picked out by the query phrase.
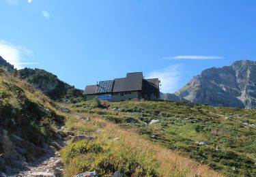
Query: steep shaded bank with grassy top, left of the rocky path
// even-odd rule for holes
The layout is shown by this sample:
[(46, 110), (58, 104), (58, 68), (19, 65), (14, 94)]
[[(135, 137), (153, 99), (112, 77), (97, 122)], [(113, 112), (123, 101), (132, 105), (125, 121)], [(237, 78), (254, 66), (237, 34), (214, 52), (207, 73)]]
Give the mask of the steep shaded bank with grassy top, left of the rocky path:
[(54, 101), (0, 68), (0, 172), (18, 173), (44, 155), (64, 118)]

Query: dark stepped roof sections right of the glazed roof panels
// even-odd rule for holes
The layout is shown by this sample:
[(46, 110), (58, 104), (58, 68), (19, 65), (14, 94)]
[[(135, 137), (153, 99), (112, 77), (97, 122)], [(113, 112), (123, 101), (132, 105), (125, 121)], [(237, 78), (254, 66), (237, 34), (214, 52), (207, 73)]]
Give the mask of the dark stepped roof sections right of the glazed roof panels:
[(117, 78), (114, 80), (113, 92), (141, 91), (142, 80), (142, 72), (128, 73), (126, 78)]

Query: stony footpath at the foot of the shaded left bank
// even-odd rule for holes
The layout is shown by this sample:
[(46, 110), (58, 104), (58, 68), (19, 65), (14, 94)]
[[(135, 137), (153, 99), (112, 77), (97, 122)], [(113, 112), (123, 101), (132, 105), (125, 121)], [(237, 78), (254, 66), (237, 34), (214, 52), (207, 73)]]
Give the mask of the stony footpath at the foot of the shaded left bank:
[[(60, 143), (61, 144), (61, 143)], [(66, 142), (62, 142), (62, 146)], [(33, 176), (33, 177), (53, 177), (62, 176), (63, 164), (59, 151), (53, 146), (44, 145), (46, 149), (46, 155), (38, 159), (37, 161), (30, 163), (27, 166), (27, 170), (20, 172), (16, 176)]]

